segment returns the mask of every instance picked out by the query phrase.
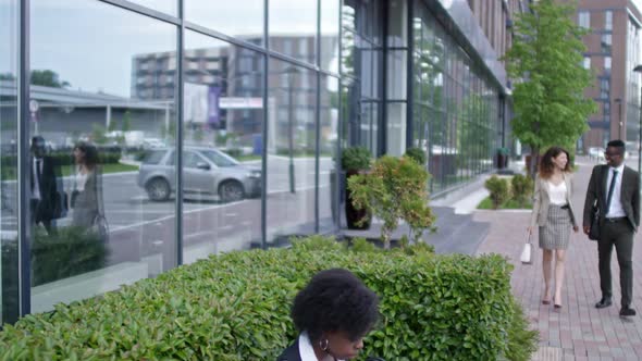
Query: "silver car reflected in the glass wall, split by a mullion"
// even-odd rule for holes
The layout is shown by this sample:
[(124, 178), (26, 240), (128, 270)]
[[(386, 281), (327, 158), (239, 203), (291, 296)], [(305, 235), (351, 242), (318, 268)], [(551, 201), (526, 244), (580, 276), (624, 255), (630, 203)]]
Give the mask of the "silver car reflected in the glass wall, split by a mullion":
[[(162, 201), (176, 190), (174, 148), (152, 149), (138, 171), (138, 186), (150, 200)], [(261, 170), (242, 164), (214, 148), (185, 147), (183, 150), (183, 192), (214, 195), (224, 202), (261, 194)]]

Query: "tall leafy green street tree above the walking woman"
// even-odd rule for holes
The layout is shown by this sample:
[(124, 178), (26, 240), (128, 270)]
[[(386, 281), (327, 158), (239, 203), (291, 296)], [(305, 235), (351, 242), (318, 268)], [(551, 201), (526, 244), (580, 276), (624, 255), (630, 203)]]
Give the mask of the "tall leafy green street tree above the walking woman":
[(583, 94), (593, 75), (582, 67), (587, 32), (572, 21), (576, 7), (541, 0), (531, 9), (518, 15), (505, 60), (509, 76), (522, 79), (513, 91), (513, 133), (530, 146), (531, 159), (536, 160), (544, 147), (573, 149), (596, 105)]

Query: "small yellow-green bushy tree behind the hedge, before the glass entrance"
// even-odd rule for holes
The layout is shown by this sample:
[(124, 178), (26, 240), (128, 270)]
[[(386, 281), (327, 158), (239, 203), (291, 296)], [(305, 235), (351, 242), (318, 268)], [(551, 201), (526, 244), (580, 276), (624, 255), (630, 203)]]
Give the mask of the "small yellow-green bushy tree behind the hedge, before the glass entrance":
[(435, 216), (428, 207), (425, 184), (428, 172), (417, 161), (384, 155), (374, 162), (367, 174), (348, 179), (355, 207), (366, 209), (383, 221), (381, 240), (390, 248), (391, 237), (399, 224), (410, 226), (410, 239), (418, 241), (425, 228), (431, 228)]

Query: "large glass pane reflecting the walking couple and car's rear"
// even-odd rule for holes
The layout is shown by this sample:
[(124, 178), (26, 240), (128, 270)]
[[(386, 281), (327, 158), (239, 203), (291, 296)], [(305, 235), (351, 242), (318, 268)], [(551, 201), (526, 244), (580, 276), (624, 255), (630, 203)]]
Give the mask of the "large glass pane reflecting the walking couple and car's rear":
[(163, 162), (175, 145), (177, 28), (100, 1), (30, 4), (32, 311), (40, 312), (176, 265), (174, 169)]

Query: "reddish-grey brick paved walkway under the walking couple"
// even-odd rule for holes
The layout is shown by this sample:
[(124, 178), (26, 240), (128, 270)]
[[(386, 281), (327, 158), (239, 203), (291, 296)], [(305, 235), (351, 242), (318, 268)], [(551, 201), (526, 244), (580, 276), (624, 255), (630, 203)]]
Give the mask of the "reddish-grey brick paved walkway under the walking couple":
[[(573, 206), (581, 213), (593, 163), (580, 158), (578, 164)], [(637, 167), (630, 161), (628, 164)], [(594, 308), (601, 297), (597, 246), (581, 231), (571, 233), (563, 287), (564, 308), (557, 313), (552, 304), (541, 302), (544, 291), (541, 250), (535, 247), (532, 265), (519, 263), (529, 215), (530, 212), (521, 211), (476, 211), (474, 220), (491, 223), (491, 231), (477, 253), (505, 254), (515, 264), (513, 291), (521, 300), (532, 326), (540, 331), (541, 348), (534, 360), (642, 360), (641, 233), (635, 235), (633, 248), (632, 307), (638, 311), (637, 316), (627, 320), (618, 315), (620, 289), (615, 249), (612, 260), (614, 306), (602, 310)]]

